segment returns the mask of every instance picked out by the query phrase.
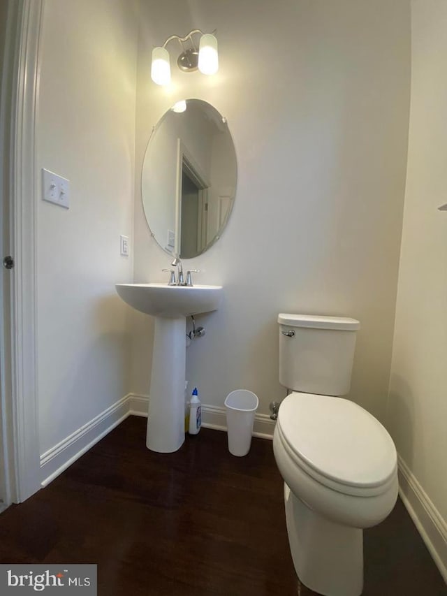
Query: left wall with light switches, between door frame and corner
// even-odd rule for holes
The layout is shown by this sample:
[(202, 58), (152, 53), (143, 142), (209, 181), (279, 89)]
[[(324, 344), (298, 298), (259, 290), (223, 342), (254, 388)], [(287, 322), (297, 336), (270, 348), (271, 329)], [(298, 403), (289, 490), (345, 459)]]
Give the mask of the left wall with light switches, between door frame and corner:
[[(129, 390), (137, 15), (129, 0), (46, 0), (38, 174), (68, 177), (71, 208), (38, 202), (41, 453)], [(40, 191), (39, 180), (39, 191)]]

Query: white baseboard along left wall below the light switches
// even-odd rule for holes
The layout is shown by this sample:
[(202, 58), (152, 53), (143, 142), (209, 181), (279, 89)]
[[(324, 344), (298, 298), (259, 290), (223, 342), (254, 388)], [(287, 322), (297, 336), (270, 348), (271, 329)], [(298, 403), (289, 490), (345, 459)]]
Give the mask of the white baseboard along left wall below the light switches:
[(47, 486), (95, 443), (110, 433), (112, 428), (129, 416), (130, 395), (118, 400), (87, 424), (75, 430), (57, 445), (41, 455), (41, 486)]

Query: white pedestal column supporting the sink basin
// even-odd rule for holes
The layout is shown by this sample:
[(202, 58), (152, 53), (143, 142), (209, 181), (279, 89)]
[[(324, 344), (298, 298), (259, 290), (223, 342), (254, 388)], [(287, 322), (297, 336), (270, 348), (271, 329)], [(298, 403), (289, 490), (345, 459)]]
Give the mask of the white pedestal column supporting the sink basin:
[(159, 453), (184, 442), (186, 317), (156, 317), (146, 446)]

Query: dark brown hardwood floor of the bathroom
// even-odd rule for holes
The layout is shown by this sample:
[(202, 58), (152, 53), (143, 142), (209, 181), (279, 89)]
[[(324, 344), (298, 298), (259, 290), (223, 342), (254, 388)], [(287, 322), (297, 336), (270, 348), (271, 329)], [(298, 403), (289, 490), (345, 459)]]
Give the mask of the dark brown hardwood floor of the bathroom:
[[(228, 453), (203, 428), (177, 453), (145, 447), (131, 416), (64, 474), (0, 515), (2, 563), (97, 563), (100, 596), (292, 596), (283, 485), (272, 443)], [(447, 595), (399, 501), (365, 532), (365, 596)]]

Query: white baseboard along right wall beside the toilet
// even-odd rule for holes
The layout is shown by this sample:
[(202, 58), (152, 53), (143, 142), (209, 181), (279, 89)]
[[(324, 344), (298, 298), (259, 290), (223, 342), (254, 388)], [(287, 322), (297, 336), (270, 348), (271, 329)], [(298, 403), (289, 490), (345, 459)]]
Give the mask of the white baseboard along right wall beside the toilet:
[(400, 456), (399, 494), (447, 583), (447, 522)]

